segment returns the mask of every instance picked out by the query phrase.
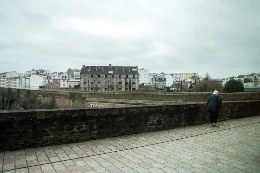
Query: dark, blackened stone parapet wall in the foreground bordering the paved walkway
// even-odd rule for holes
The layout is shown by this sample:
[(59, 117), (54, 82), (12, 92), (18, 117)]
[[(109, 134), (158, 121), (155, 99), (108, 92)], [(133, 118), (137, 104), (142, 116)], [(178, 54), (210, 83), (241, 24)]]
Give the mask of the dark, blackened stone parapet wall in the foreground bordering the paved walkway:
[[(260, 114), (260, 100), (223, 102), (222, 120)], [(0, 150), (208, 122), (206, 103), (0, 111)]]

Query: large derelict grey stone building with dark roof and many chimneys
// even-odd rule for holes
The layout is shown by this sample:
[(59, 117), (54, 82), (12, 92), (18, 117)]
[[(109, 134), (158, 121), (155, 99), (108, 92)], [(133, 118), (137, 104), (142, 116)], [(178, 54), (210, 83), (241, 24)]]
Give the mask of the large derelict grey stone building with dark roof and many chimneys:
[(138, 89), (138, 68), (125, 66), (82, 66), (83, 91), (133, 91)]

